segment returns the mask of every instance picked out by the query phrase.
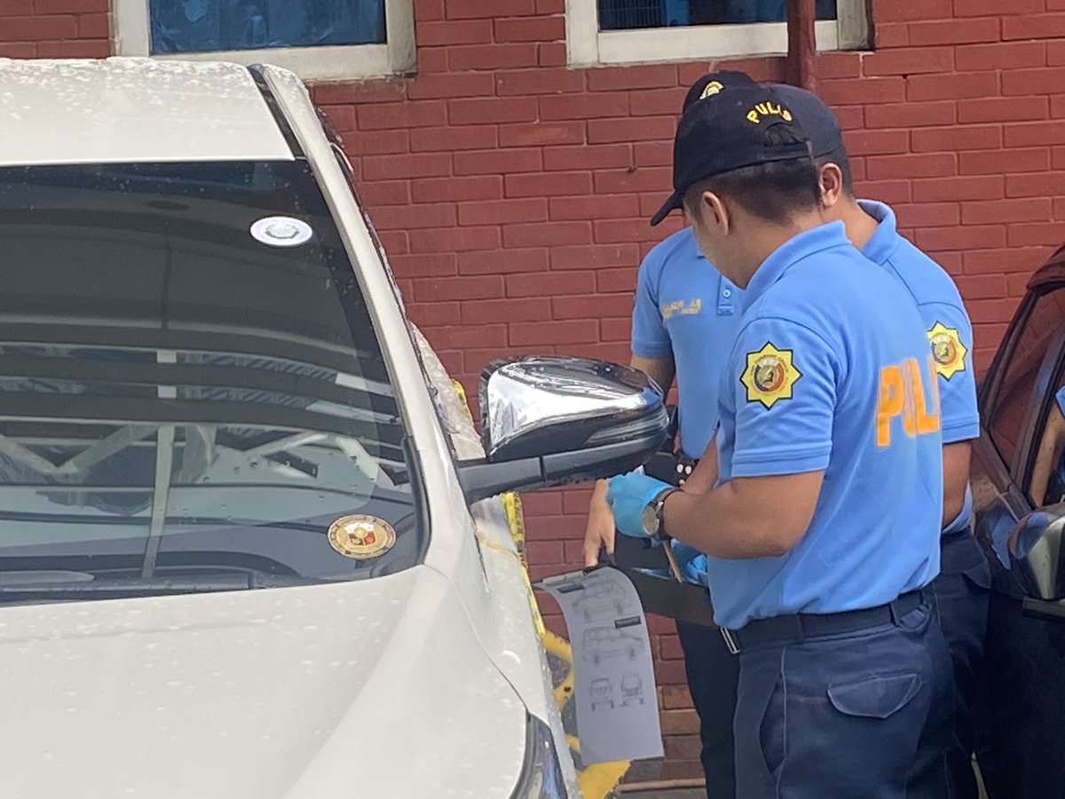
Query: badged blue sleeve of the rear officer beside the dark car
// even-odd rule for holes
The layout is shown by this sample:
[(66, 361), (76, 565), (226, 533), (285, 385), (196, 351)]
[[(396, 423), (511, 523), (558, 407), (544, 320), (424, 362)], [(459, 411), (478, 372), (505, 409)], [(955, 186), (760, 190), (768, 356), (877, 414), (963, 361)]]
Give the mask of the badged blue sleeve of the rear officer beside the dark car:
[(972, 370), (972, 325), (962, 308), (936, 304), (921, 308), (939, 387), (943, 442), (968, 441), (980, 436), (977, 380)]

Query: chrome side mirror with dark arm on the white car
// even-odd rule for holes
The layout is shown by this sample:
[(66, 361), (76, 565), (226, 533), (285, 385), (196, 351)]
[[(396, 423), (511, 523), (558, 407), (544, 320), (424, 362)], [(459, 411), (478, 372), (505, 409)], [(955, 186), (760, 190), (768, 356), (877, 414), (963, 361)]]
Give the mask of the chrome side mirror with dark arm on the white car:
[(639, 370), (588, 358), (497, 360), (480, 375), (485, 458), (457, 464), (470, 503), (609, 477), (666, 439), (662, 392)]

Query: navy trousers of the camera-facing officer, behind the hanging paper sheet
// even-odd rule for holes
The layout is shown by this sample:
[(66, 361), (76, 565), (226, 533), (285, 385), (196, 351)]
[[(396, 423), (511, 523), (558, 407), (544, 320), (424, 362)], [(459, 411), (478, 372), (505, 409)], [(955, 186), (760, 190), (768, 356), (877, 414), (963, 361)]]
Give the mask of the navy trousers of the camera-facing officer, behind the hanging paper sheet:
[(691, 702), (699, 714), (700, 761), (707, 799), (735, 799), (736, 763), (732, 724), (736, 713), (739, 658), (717, 627), (676, 622)]

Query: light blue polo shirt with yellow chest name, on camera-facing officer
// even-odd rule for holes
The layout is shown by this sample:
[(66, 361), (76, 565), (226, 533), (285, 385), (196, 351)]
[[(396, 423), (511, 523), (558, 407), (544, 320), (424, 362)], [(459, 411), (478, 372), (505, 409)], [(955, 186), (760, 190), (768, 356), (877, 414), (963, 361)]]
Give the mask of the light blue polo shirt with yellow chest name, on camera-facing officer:
[(642, 358), (673, 357), (681, 444), (692, 458), (702, 457), (718, 424), (741, 294), (706, 260), (691, 228), (663, 239), (640, 264), (632, 349)]

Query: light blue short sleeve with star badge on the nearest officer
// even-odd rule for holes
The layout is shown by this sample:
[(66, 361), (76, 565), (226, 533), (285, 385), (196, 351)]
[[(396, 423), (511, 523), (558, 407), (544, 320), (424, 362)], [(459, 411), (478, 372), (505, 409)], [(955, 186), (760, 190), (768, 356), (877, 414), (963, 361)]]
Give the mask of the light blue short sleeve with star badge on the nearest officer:
[(726, 377), (735, 391), (733, 477), (826, 469), (838, 362), (809, 328), (757, 319), (740, 333)]

